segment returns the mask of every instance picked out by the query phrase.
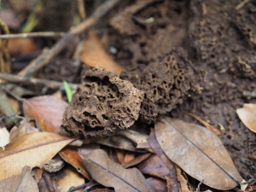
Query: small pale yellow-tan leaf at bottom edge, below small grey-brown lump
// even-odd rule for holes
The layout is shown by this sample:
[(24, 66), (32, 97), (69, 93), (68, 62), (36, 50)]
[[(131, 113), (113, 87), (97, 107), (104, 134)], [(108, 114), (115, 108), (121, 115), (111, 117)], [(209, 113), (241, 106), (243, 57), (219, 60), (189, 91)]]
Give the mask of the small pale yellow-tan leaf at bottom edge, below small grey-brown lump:
[[(56, 185), (59, 192), (67, 192), (71, 187), (77, 187), (84, 184), (84, 177), (81, 177), (78, 172), (75, 172), (72, 167), (67, 167), (62, 172), (56, 173)], [(84, 189), (75, 190), (76, 192)]]

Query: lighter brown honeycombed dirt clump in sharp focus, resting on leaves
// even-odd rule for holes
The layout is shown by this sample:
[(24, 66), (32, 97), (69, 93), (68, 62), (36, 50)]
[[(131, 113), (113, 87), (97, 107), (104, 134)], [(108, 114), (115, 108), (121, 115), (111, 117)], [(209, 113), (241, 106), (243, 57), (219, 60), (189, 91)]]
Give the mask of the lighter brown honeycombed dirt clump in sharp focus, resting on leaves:
[(63, 129), (84, 137), (127, 129), (138, 119), (143, 95), (129, 81), (105, 69), (87, 70), (63, 115)]

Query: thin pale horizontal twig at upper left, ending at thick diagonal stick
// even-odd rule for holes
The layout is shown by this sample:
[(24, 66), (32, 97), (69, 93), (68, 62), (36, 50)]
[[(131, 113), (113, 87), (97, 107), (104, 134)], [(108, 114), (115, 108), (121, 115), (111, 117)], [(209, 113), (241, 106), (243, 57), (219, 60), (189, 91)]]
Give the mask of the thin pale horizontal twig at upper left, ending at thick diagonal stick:
[(28, 32), (18, 34), (4, 34), (1, 38), (37, 38), (37, 37), (63, 37), (65, 32)]

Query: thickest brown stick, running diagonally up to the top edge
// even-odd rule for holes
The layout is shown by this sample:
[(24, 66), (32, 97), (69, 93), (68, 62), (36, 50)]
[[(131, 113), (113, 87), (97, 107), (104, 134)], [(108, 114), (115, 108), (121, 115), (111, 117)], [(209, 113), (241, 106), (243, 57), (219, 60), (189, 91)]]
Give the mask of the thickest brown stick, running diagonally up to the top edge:
[(78, 26), (71, 28), (64, 37), (62, 37), (51, 49), (49, 49), (49, 51), (39, 57), (35, 62), (32, 63), (32, 65), (28, 65), (24, 69), (26, 72), (25, 76), (31, 77), (33, 73), (47, 65), (55, 55), (59, 54), (61, 50), (64, 49), (73, 36), (84, 32), (90, 26), (96, 24), (97, 20), (102, 18), (103, 15), (106, 15), (108, 11), (117, 3), (119, 3), (119, 0), (108, 0), (106, 3), (102, 3), (102, 5), (99, 6), (96, 11), (90, 17), (88, 17), (88, 19), (81, 22)]

